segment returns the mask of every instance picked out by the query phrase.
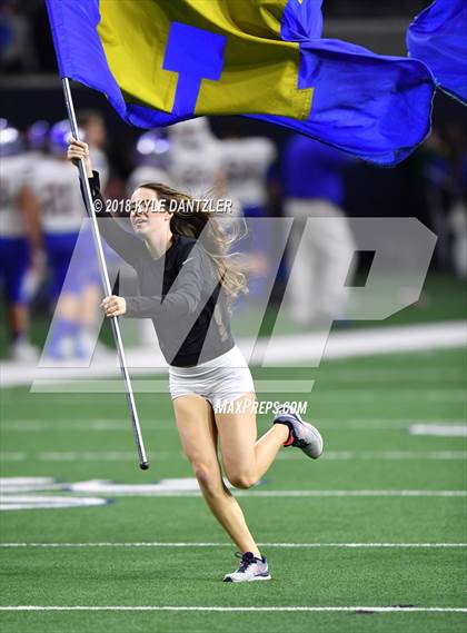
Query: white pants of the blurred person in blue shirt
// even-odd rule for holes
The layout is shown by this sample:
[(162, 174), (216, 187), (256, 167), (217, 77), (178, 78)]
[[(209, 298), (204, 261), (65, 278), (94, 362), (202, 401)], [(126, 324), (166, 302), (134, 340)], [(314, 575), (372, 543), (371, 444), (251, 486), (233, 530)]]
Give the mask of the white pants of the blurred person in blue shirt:
[[(308, 325), (344, 318), (354, 270), (355, 241), (342, 210), (328, 200), (289, 198), (285, 214), (294, 218), (287, 287), (290, 316)], [(312, 230), (305, 222), (312, 218)]]

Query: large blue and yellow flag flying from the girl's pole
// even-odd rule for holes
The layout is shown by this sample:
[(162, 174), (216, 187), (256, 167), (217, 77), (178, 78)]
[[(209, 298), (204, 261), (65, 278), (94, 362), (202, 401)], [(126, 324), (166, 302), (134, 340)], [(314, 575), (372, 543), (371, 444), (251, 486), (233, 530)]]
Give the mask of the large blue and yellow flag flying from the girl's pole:
[(247, 115), (380, 165), (429, 131), (417, 60), (320, 39), (321, 0), (47, 0), (61, 77), (129, 123)]

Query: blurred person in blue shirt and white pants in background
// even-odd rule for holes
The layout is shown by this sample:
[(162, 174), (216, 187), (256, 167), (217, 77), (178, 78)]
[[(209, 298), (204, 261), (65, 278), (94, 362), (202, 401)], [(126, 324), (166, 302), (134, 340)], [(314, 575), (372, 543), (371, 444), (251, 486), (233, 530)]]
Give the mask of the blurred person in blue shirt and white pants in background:
[[(300, 326), (346, 314), (347, 286), (352, 276), (349, 253), (355, 244), (341, 206), (344, 171), (350, 160), (302, 135), (294, 135), (285, 148), (285, 215), (295, 220), (289, 253), (290, 316)], [(308, 218), (316, 221), (312, 230), (304, 233)]]

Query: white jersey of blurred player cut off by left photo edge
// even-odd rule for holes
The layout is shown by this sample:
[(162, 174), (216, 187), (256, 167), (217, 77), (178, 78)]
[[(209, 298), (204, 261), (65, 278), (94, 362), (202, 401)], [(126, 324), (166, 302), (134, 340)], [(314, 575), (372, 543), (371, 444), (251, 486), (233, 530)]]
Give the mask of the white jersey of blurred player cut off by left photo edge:
[(18, 205), (18, 195), (30, 182), (31, 162), (27, 154), (7, 156), (0, 166), (0, 236), (23, 237), (24, 218)]

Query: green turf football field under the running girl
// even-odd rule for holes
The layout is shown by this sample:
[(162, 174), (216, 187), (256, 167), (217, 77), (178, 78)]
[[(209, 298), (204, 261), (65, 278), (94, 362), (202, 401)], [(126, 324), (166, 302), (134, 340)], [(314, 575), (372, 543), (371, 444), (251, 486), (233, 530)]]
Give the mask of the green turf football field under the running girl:
[[(238, 493), (272, 574), (240, 585), (220, 582), (235, 547), (196, 493), (69, 489), (191, 477), (167, 396), (137, 396), (151, 461), (143, 473), (121, 394), (6, 389), (1, 476), (10, 486), (37, 479), (36, 493), (17, 479), (22, 503), (40, 494), (109, 503), (1, 513), (1, 604), (54, 607), (2, 610), (2, 633), (466, 631), (466, 437), (443, 434), (466, 422), (465, 350), (256, 376), (272, 374), (316, 378), (308, 417), (326, 454), (312, 462), (284, 448), (260, 485)], [(260, 431), (269, 424), (259, 417)], [(420, 425), (441, 435), (414, 434)]]

